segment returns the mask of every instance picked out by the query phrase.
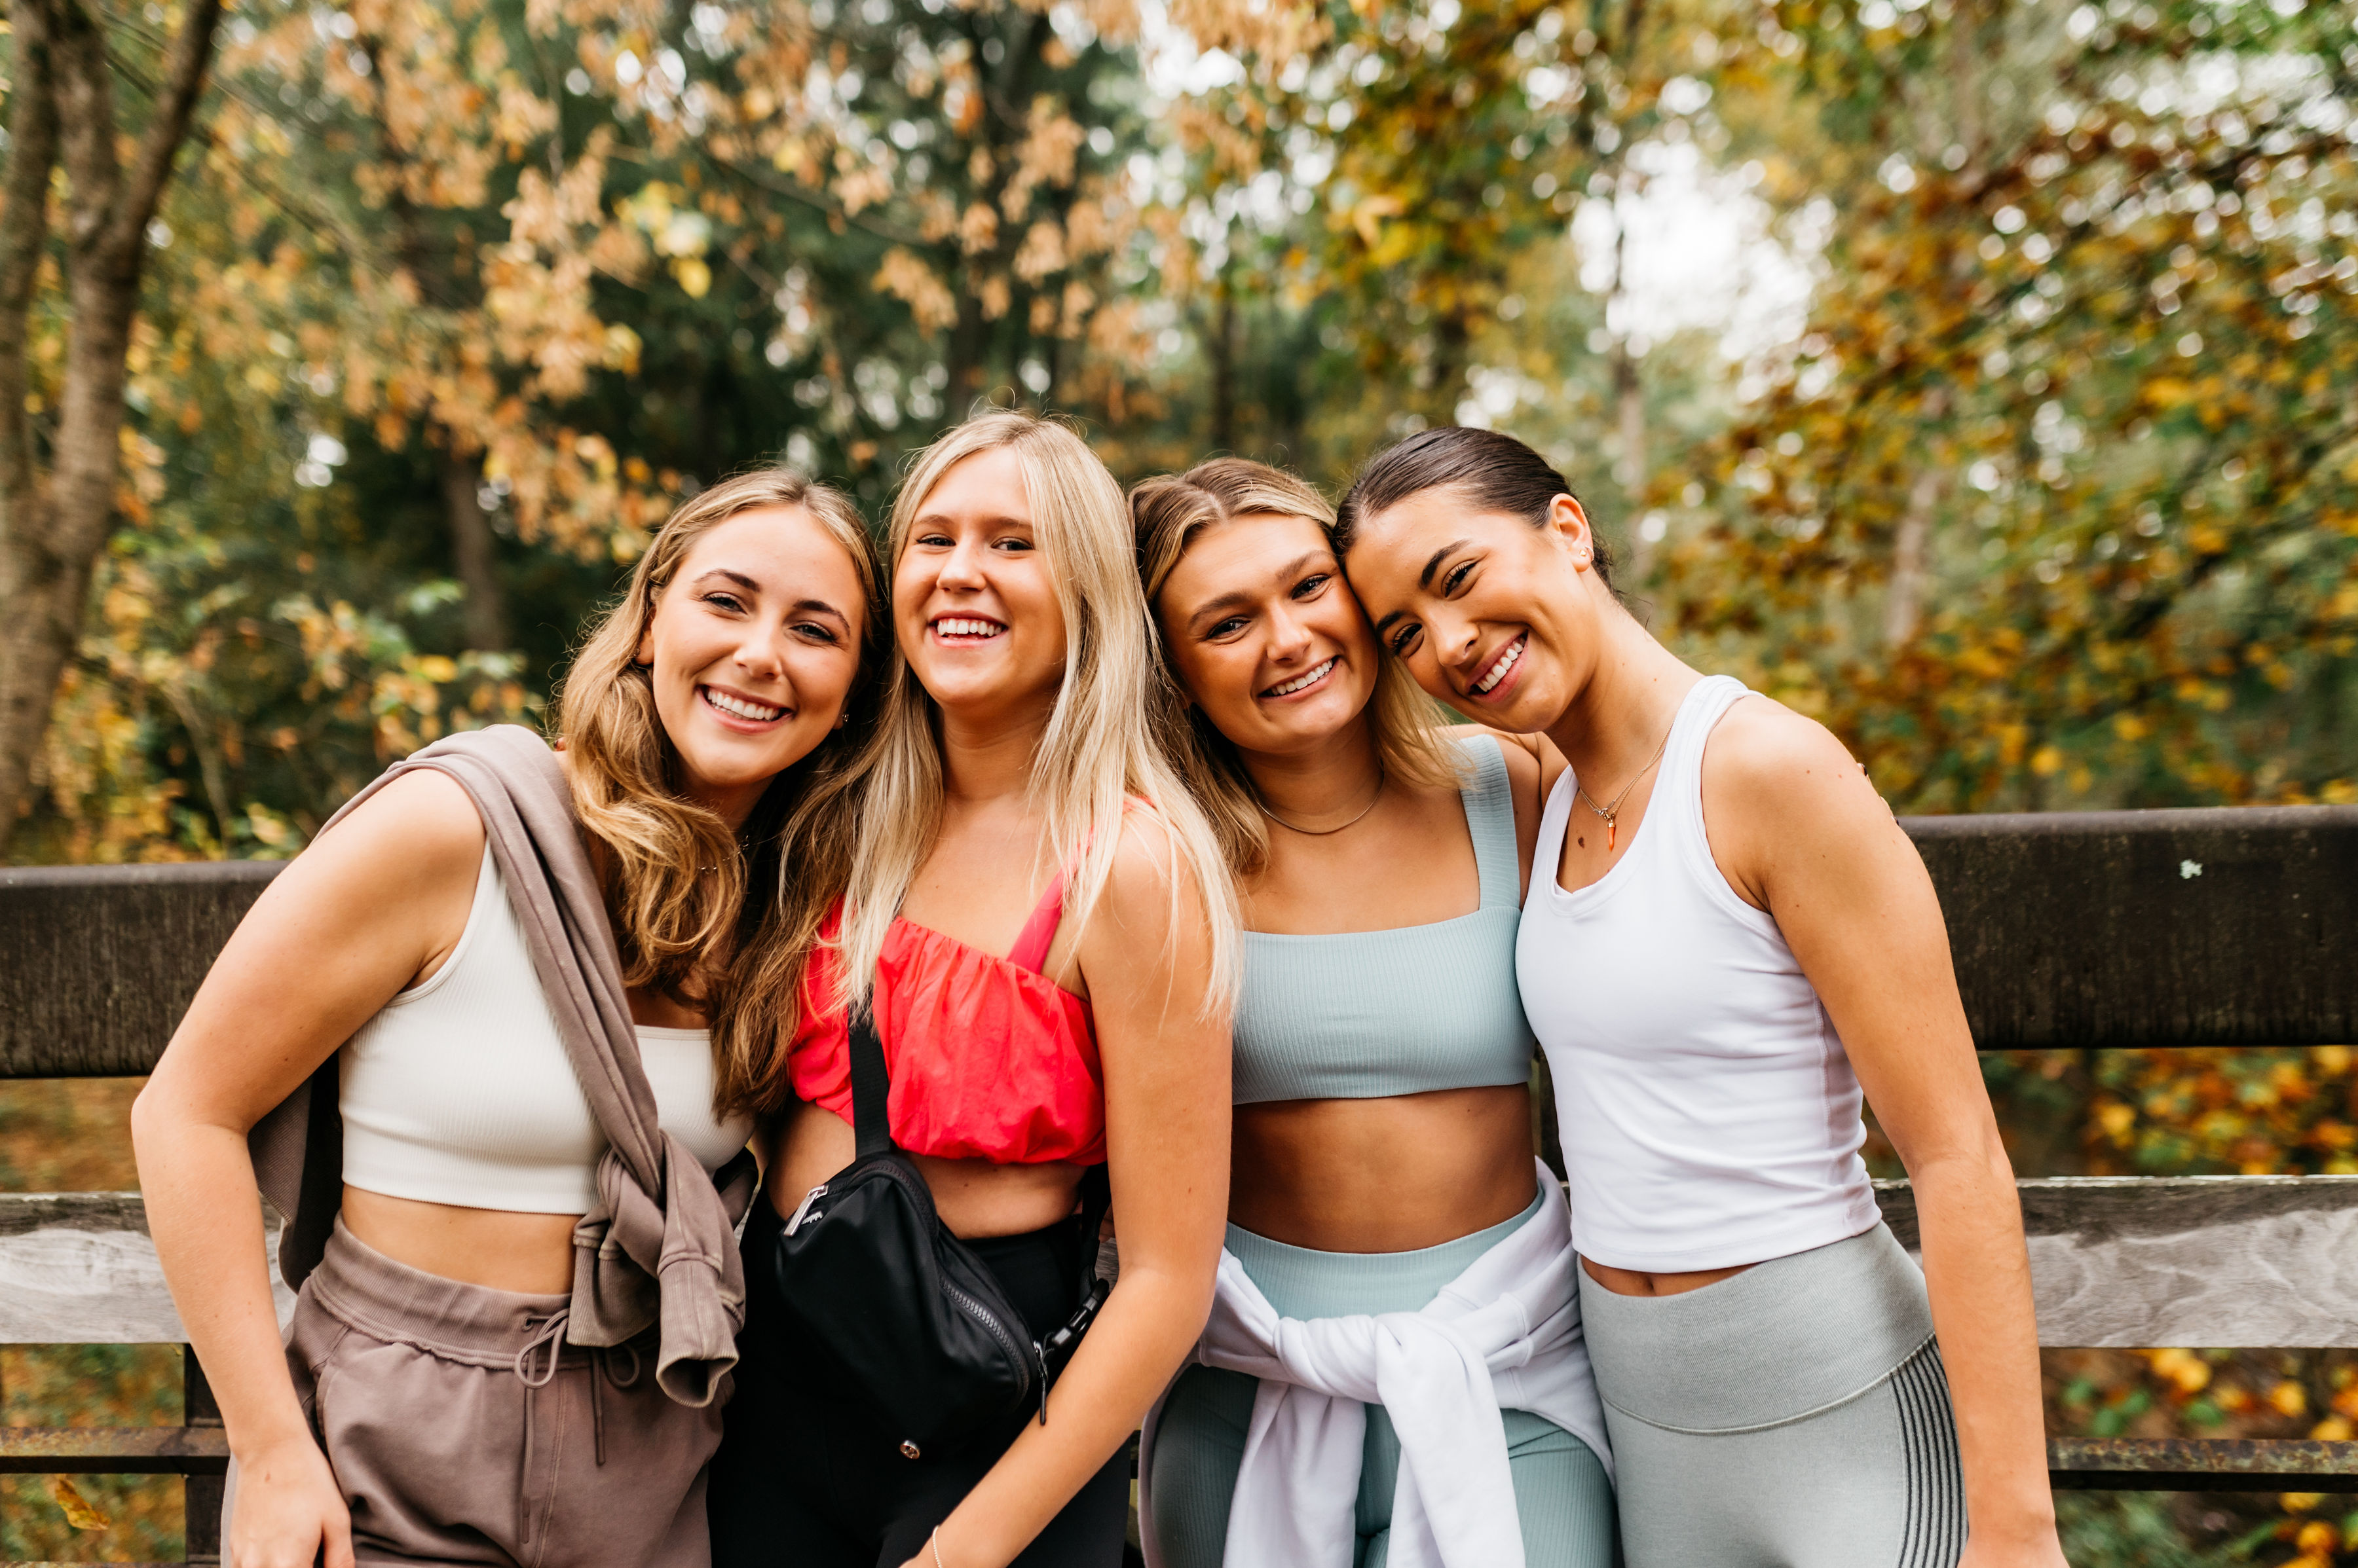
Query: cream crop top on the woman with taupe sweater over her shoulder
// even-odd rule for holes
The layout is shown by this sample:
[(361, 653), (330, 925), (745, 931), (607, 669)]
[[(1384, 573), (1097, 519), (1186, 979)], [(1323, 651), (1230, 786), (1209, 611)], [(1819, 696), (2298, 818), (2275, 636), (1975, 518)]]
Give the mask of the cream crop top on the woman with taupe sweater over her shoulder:
[[(712, 1037), (639, 1028), (656, 1118), (705, 1170), (750, 1118), (712, 1115)], [(606, 1134), (573, 1075), (490, 851), (457, 948), (361, 1026), (337, 1066), (344, 1184), (467, 1210), (587, 1214)]]

